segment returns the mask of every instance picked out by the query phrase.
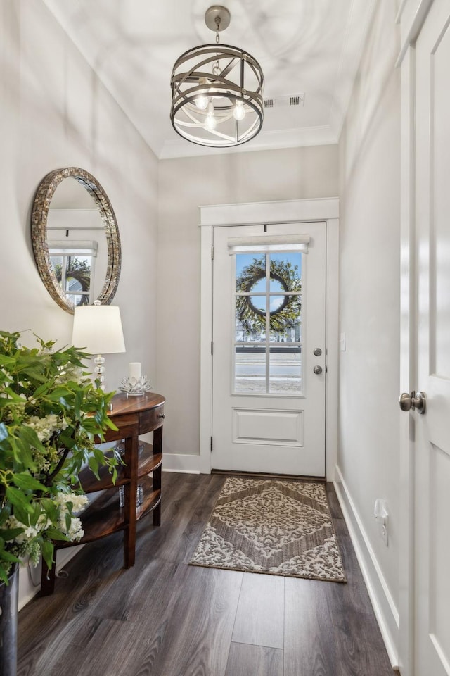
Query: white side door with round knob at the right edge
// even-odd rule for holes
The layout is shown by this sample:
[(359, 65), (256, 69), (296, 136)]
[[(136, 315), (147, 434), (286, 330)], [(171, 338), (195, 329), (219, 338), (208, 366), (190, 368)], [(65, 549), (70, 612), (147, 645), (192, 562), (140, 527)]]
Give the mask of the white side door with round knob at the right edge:
[(450, 3), (416, 43), (415, 669), (450, 674)]

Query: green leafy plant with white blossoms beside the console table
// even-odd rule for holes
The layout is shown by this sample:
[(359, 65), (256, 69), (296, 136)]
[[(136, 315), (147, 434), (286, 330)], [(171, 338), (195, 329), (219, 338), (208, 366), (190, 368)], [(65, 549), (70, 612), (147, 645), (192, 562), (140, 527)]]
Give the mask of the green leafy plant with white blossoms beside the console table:
[(42, 555), (51, 567), (53, 541), (78, 541), (77, 516), (87, 503), (78, 483), (84, 465), (98, 476), (119, 459), (94, 442), (108, 428), (114, 392), (96, 389), (84, 371), (86, 353), (21, 346), (20, 332), (0, 331), (0, 580), (13, 563)]

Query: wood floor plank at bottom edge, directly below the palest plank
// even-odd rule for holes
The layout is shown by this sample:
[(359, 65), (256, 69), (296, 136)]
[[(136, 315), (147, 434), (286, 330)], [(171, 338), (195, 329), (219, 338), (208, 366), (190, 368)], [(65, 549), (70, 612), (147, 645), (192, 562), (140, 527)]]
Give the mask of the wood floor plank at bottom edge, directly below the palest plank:
[(232, 643), (225, 676), (283, 676), (283, 651)]

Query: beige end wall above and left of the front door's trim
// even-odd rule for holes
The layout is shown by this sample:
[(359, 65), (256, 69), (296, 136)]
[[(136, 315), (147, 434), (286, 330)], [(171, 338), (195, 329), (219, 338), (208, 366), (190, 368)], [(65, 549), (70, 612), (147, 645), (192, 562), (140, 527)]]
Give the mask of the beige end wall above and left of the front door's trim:
[(162, 160), (159, 187), (156, 383), (167, 399), (164, 449), (165, 453), (198, 455), (198, 206), (334, 197), (338, 194), (338, 146)]

